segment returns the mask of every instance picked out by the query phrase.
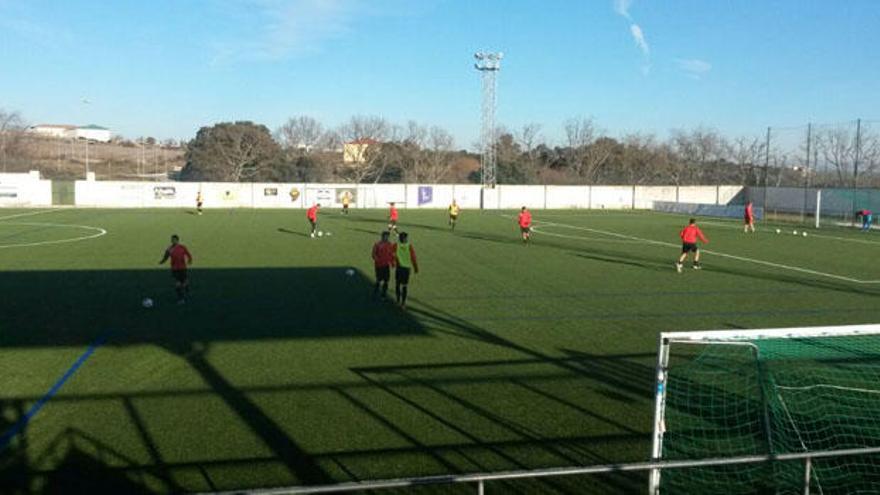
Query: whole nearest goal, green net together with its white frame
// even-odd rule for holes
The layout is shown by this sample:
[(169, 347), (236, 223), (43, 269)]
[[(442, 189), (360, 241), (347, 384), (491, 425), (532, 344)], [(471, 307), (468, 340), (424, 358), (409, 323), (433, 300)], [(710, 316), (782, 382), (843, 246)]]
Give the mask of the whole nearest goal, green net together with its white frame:
[[(664, 333), (655, 460), (880, 446), (880, 325)], [(877, 493), (880, 456), (655, 470), (650, 493)]]

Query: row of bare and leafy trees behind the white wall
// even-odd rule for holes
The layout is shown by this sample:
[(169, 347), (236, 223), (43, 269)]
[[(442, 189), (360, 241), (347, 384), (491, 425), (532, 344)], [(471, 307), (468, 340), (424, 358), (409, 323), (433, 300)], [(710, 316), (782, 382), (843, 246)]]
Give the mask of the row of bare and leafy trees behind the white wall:
[[(17, 112), (0, 109), (0, 161), (20, 152), (25, 129)], [(800, 131), (798, 131), (800, 132)], [(715, 129), (676, 129), (613, 137), (591, 118), (566, 120), (549, 144), (543, 127), (499, 128), (494, 143), (500, 184), (740, 184), (880, 186), (880, 135), (869, 127), (818, 127), (809, 138), (727, 137)], [(346, 143), (368, 143), (344, 160)], [(295, 116), (270, 130), (250, 121), (199, 129), (183, 144), (180, 180), (442, 183), (480, 180), (478, 152), (457, 148), (436, 125), (357, 115), (328, 127)], [(476, 147), (476, 146), (475, 146)]]

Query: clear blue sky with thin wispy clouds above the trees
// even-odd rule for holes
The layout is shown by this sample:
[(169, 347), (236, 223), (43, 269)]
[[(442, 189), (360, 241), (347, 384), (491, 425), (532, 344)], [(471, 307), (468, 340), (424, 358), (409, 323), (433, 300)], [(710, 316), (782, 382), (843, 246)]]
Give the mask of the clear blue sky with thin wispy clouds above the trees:
[(499, 122), (551, 143), (579, 116), (751, 135), (880, 118), (878, 26), (876, 0), (0, 0), (0, 108), (163, 139), (378, 114), (471, 147), (472, 54), (500, 50)]

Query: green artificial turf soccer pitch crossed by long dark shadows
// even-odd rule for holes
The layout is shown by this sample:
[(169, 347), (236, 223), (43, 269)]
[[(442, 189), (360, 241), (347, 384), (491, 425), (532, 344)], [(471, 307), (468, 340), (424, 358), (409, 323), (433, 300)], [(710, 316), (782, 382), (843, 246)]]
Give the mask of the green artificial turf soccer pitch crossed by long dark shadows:
[[(403, 311), (371, 294), (384, 211), (323, 211), (320, 239), (300, 210), (0, 211), (0, 492), (644, 461), (661, 331), (880, 320), (873, 233), (706, 219), (704, 269), (679, 274), (686, 217), (533, 214), (524, 246), (515, 212), (451, 232), (444, 211), (401, 210), (421, 268)], [(158, 265), (173, 233), (195, 258), (183, 306)]]

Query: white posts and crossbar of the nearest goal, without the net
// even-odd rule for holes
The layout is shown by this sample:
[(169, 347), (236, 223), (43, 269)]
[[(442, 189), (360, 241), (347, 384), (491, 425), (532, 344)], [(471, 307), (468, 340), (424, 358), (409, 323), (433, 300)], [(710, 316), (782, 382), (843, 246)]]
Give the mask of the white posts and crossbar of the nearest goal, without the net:
[[(661, 333), (657, 347), (657, 383), (654, 389), (654, 431), (652, 435), (651, 460), (653, 462), (659, 462), (663, 457), (663, 435), (666, 433), (666, 381), (668, 378), (669, 350), (672, 344), (746, 345), (755, 350), (757, 358), (757, 347), (750, 343), (750, 341), (753, 340), (847, 337), (855, 335), (880, 335), (880, 325), (842, 325)], [(766, 415), (766, 408), (764, 412)], [(766, 423), (765, 418), (765, 425)], [(769, 431), (767, 434), (769, 435)], [(651, 470), (651, 476), (648, 483), (648, 493), (650, 495), (658, 495), (660, 493), (660, 471), (660, 469)], [(807, 483), (809, 483), (809, 473), (807, 473), (806, 476)]]

